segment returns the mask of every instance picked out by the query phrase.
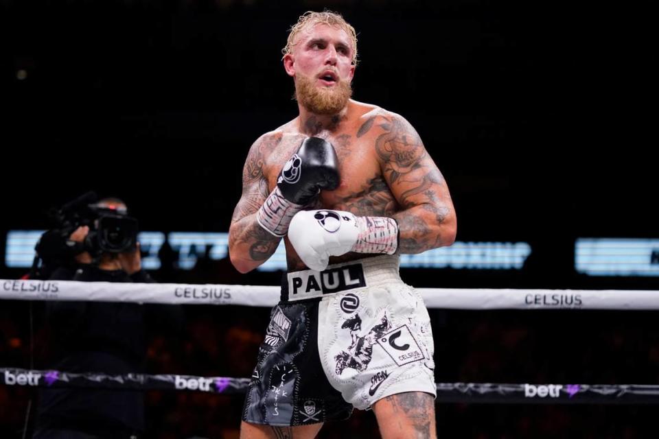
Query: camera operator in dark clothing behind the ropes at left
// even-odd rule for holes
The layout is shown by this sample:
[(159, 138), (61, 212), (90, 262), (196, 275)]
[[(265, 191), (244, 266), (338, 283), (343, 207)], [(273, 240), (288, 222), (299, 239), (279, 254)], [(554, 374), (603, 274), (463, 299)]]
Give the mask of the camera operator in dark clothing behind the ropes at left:
[[(50, 263), (49, 278), (153, 282), (141, 269), (137, 222), (128, 217), (126, 204), (107, 198), (88, 206), (95, 219), (69, 224), (75, 229), (66, 237), (67, 247), (74, 250), (67, 250), (57, 267)], [(46, 307), (47, 368), (117, 375), (144, 371), (145, 307), (124, 302), (47, 302)], [(142, 392), (44, 389), (32, 437), (139, 438), (143, 430)]]

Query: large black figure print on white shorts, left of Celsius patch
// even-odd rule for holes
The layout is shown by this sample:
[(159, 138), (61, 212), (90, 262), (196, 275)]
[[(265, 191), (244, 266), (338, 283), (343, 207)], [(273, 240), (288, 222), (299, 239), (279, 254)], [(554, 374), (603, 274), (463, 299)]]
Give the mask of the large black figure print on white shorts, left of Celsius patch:
[(350, 331), (352, 342), (345, 351), (340, 351), (334, 357), (337, 375), (341, 375), (341, 372), (346, 368), (358, 370), (359, 372), (366, 370), (373, 356), (373, 344), (377, 343), (378, 339), (391, 329), (391, 323), (389, 323), (389, 318), (386, 317), (385, 312), (384, 316), (380, 318), (380, 323), (376, 324), (365, 335), (360, 335), (362, 332), (362, 319), (356, 313), (354, 317), (343, 322), (341, 329)]

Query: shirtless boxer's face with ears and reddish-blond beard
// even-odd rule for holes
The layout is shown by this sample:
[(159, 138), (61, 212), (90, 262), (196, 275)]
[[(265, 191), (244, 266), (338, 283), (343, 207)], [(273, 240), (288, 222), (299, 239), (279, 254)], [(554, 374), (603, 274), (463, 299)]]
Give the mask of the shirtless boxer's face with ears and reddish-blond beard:
[(284, 57), (298, 102), (316, 114), (340, 112), (352, 94), (353, 52), (349, 35), (340, 27), (319, 23), (302, 29), (292, 54)]

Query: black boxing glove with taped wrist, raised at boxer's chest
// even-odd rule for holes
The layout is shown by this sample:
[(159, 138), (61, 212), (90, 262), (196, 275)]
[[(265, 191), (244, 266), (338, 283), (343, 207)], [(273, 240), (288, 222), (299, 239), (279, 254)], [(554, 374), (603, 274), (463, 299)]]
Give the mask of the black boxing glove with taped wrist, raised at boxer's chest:
[(332, 191), (338, 183), (338, 158), (332, 143), (309, 137), (281, 168), (277, 187), (257, 212), (257, 222), (273, 235), (283, 237), (296, 213), (322, 189)]

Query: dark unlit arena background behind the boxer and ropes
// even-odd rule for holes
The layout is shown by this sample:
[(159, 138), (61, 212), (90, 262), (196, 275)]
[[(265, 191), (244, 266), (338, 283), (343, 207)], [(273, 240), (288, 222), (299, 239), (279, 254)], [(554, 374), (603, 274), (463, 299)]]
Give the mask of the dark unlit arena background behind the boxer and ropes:
[[(49, 207), (89, 189), (126, 200), (141, 230), (227, 231), (249, 145), (297, 114), (280, 62), (286, 29), (305, 10), (328, 7), (358, 30), (354, 97), (415, 126), (448, 181), (457, 239), (527, 241), (533, 250), (522, 270), (404, 270), (404, 278), (419, 287), (659, 289), (656, 278), (589, 278), (573, 268), (577, 237), (659, 237), (658, 51), (646, 5), (2, 0), (0, 237), (49, 227)], [(3, 278), (22, 274), (0, 267)], [(238, 276), (226, 261), (154, 274), (264, 285), (278, 276)], [(0, 332), (21, 340), (0, 348), (3, 366), (25, 367), (27, 305), (0, 309)], [(150, 372), (247, 376), (267, 310), (186, 310), (180, 342), (154, 336)], [(432, 316), (437, 381), (658, 381), (654, 313)], [(242, 340), (244, 360), (225, 354), (237, 349), (231, 337)], [(3, 392), (0, 436), (14, 437), (30, 395)], [(148, 397), (152, 435), (163, 438), (233, 437), (242, 403)], [(437, 410), (446, 437), (641, 438), (651, 408)], [(371, 429), (367, 413), (324, 434)]]

